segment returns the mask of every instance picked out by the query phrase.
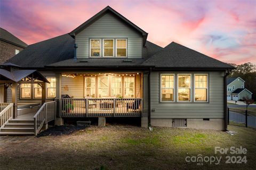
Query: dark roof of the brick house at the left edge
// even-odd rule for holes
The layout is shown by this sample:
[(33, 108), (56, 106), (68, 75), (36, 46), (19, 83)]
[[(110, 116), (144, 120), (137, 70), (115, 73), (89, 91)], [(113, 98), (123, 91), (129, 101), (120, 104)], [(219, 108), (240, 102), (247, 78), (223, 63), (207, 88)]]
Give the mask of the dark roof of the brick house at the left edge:
[(19, 38), (12, 35), (12, 33), (6, 31), (3, 28), (0, 28), (0, 39), (6, 41), (7, 43), (11, 43), (22, 48), (26, 48), (28, 45), (21, 41)]

